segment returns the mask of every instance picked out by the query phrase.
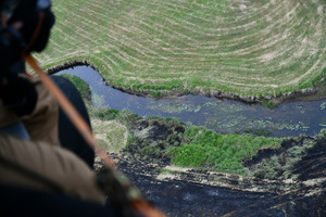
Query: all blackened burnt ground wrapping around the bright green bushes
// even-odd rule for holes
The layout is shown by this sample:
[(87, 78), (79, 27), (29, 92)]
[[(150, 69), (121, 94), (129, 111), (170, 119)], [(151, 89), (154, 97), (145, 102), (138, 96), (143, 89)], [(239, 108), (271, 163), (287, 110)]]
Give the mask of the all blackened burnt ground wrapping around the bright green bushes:
[[(137, 138), (114, 157), (120, 169), (167, 216), (326, 216), (325, 133), (285, 139), (277, 150), (261, 150), (242, 163), (253, 173), (249, 177), (189, 169), (173, 170), (173, 176), (162, 178), (171, 162), (160, 144), (177, 141), (178, 137), (172, 136), (178, 124), (162, 125), (166, 123), (135, 122), (131, 131), (148, 128), (147, 136)], [(141, 149), (149, 144), (156, 146), (146, 156)]]

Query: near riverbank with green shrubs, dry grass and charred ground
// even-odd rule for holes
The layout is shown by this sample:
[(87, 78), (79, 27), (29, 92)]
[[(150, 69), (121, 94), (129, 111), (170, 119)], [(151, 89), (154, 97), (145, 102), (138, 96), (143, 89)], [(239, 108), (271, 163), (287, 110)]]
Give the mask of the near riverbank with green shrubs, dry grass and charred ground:
[[(260, 149), (241, 162), (246, 174), (242, 170), (239, 175), (213, 167), (177, 167), (168, 158), (168, 150), (181, 146), (183, 141), (189, 142), (186, 146), (191, 146), (191, 141), (214, 143), (214, 132), (203, 128), (189, 131), (172, 118), (143, 118), (127, 111), (96, 108), (89, 101), (87, 104), (96, 137), (111, 138), (101, 140), (101, 145), (143, 195), (171, 217), (326, 214), (325, 130), (314, 137), (283, 140), (273, 149)], [(228, 146), (242, 142), (231, 143)], [(192, 162), (198, 159), (192, 157)], [(229, 163), (231, 169), (234, 163)], [(97, 158), (95, 168), (99, 170), (102, 165)]]

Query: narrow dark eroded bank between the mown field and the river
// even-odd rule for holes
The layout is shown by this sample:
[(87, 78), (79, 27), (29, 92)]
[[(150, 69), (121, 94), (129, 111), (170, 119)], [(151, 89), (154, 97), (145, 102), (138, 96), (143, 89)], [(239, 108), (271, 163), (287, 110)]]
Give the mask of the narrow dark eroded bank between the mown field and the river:
[[(62, 65), (58, 65), (55, 67), (47, 69), (47, 73), (53, 75), (60, 71), (76, 67), (76, 66), (89, 66), (95, 71), (99, 72), (95, 65), (87, 61), (73, 61), (66, 62)], [(326, 72), (326, 69), (325, 69)], [(100, 72), (99, 72), (100, 74)], [(272, 104), (279, 105), (281, 103), (289, 103), (289, 102), (298, 102), (298, 101), (315, 101), (326, 99), (326, 81), (325, 79), (318, 80), (313, 88), (286, 92), (281, 94), (273, 94), (273, 95), (241, 95), (231, 92), (223, 92), (223, 91), (210, 91), (210, 90), (153, 90), (153, 89), (131, 89), (130, 87), (121, 87), (112, 84), (110, 80), (102, 77), (108, 86), (111, 86), (114, 89), (121, 90), (123, 92), (129, 94), (136, 94), (146, 98), (155, 98), (155, 99), (164, 99), (164, 98), (176, 98), (186, 94), (195, 94), (195, 95), (204, 95), (211, 98), (218, 98), (218, 99), (230, 99), (230, 100), (238, 100), (246, 103), (262, 103), (263, 101), (271, 102)]]

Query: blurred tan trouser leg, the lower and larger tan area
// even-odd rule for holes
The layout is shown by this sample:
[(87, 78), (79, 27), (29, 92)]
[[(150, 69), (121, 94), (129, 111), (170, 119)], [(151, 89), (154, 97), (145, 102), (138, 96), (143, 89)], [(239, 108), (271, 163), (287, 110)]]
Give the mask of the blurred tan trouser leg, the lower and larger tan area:
[[(2, 132), (0, 132), (0, 156), (52, 180), (64, 190), (63, 193), (92, 202), (104, 202), (104, 195), (97, 187), (95, 174), (72, 152)], [(2, 183), (53, 191), (42, 181), (24, 176), (2, 164), (0, 164), (0, 175)]]

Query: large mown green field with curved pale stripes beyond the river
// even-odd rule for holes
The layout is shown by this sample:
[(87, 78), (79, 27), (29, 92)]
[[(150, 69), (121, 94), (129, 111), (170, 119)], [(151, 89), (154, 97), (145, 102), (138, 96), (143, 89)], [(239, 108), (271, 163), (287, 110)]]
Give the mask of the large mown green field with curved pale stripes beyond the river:
[(325, 0), (55, 0), (53, 11), (45, 68), (88, 61), (133, 89), (275, 94), (326, 67)]

